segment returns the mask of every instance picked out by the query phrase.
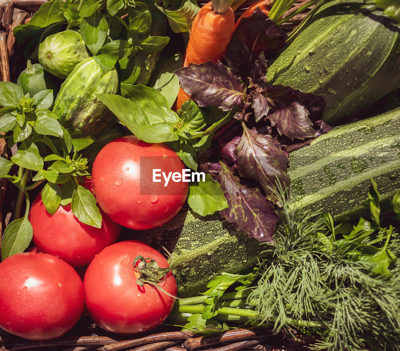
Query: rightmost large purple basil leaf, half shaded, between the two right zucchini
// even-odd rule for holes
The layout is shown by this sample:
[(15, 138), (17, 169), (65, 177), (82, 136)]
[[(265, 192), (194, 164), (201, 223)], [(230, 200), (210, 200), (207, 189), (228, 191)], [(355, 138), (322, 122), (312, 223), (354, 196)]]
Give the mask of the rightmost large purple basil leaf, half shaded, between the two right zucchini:
[(315, 137), (312, 122), (308, 118), (309, 110), (304, 106), (295, 90), (289, 86), (268, 85), (265, 91), (272, 112), (268, 115), (272, 126), (276, 126), (279, 134), (290, 139)]

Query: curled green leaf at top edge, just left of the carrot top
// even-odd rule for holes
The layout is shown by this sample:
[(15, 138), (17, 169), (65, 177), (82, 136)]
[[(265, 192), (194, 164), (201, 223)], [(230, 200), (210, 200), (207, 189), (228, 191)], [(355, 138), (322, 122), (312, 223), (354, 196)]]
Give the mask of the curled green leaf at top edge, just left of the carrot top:
[(190, 0), (186, 0), (178, 10), (166, 10), (157, 4), (156, 6), (167, 16), (168, 23), (175, 33), (190, 31), (193, 20), (200, 11), (200, 7)]

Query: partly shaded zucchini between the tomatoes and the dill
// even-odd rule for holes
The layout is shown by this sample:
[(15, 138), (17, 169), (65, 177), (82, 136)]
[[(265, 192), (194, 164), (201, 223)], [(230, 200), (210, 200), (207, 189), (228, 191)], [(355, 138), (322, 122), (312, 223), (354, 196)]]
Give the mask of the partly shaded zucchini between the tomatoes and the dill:
[(160, 251), (162, 245), (172, 254), (178, 297), (206, 291), (207, 283), (221, 272), (235, 274), (254, 267), (265, 250), (219, 213), (202, 217), (187, 206), (162, 227), (129, 231), (128, 238)]

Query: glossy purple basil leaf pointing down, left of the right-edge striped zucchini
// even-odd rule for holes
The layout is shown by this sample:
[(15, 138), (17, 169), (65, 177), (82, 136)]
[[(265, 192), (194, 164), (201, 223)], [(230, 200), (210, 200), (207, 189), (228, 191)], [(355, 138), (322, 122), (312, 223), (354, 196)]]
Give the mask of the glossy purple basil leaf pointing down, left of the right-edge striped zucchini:
[(279, 180), (284, 187), (289, 183), (286, 173), (289, 158), (280, 144), (270, 135), (258, 134), (256, 130), (243, 125), (243, 135), (235, 154), (238, 157), (239, 174), (258, 181), (266, 197), (279, 203), (274, 192), (278, 191), (276, 181)]

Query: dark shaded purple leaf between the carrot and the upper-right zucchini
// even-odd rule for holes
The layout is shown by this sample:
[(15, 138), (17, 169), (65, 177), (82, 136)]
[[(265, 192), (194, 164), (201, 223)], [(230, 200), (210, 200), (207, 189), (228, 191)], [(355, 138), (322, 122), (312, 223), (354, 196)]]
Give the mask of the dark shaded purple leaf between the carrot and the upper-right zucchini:
[(229, 67), (245, 79), (260, 54), (264, 52), (267, 60), (274, 58), (286, 45), (286, 38), (286, 34), (258, 8), (240, 20), (224, 57)]

